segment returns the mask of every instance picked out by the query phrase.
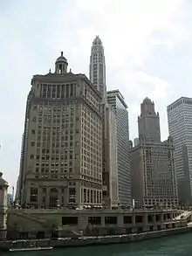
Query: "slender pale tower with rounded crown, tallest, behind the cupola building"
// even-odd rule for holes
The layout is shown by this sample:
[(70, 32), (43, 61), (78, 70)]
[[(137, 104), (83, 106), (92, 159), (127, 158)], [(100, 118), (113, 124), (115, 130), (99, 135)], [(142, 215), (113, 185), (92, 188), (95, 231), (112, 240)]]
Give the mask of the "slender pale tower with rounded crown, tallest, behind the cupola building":
[(102, 94), (103, 102), (106, 102), (106, 62), (104, 47), (99, 36), (93, 40), (90, 57), (89, 78), (97, 90)]

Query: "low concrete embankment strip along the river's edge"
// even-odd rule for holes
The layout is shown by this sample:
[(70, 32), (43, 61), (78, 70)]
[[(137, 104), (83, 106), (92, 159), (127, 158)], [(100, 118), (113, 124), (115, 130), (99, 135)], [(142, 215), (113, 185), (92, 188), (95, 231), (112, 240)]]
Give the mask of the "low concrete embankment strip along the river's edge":
[(99, 236), (99, 237), (80, 237), (77, 239), (39, 239), (39, 240), (17, 240), (1, 241), (0, 250), (31, 248), (31, 247), (71, 247), (71, 246), (99, 246), (110, 244), (127, 244), (147, 239), (157, 239), (170, 235), (176, 235), (186, 232), (192, 232), (192, 227), (185, 226), (181, 228), (168, 229), (155, 232), (145, 232), (140, 234)]

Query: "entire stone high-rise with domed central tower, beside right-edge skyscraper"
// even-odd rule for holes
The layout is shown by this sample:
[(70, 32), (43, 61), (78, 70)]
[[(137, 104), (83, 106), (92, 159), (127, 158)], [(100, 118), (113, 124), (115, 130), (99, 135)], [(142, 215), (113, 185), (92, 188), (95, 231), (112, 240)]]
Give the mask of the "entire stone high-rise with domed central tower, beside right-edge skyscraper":
[(130, 151), (134, 202), (146, 207), (177, 205), (173, 139), (160, 141), (159, 114), (148, 98), (141, 103), (138, 122), (140, 142)]

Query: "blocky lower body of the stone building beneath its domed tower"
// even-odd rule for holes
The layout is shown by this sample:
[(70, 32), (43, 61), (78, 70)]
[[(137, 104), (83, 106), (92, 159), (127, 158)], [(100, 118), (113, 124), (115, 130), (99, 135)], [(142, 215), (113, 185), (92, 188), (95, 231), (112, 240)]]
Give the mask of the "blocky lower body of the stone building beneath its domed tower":
[(130, 151), (132, 197), (139, 207), (178, 204), (173, 139), (141, 142)]

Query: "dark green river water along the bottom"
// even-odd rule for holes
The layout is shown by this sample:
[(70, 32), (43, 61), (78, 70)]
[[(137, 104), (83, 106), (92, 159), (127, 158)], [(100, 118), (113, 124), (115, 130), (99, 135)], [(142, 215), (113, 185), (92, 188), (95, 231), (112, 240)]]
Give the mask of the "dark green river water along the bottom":
[(185, 256), (192, 255), (192, 233), (127, 245), (87, 246), (51, 251), (0, 253), (1, 256)]

